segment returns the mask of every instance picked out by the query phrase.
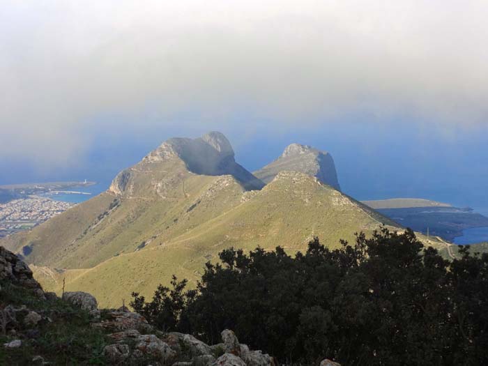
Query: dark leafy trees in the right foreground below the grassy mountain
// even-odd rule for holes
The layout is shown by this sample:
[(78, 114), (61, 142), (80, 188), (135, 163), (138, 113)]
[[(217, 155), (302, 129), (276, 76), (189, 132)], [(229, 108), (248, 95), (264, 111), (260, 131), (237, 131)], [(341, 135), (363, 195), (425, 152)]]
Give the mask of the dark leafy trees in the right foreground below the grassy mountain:
[(329, 250), (230, 248), (206, 264), (197, 289), (173, 277), (153, 300), (131, 305), (162, 330), (241, 342), (283, 363), (483, 365), (488, 363), (488, 254), (445, 261), (413, 231), (388, 229)]

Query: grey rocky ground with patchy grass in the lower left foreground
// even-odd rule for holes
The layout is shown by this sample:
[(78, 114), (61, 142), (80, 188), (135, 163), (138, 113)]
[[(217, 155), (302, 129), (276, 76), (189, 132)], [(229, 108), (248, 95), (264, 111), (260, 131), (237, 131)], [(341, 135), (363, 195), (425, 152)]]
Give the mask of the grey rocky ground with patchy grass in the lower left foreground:
[[(54, 293), (45, 296), (29, 267), (3, 247), (0, 276), (2, 300), (10, 298), (10, 304), (0, 303), (0, 331), (8, 341), (3, 341), (1, 349), (6, 353), (6, 365), (64, 365), (68, 360), (62, 356), (65, 353), (69, 363), (80, 365), (91, 363), (92, 356), (109, 365), (275, 365), (269, 355), (240, 344), (232, 330), (223, 330), (222, 343), (209, 346), (190, 334), (155, 330), (142, 315), (127, 308), (100, 312), (90, 293), (66, 292), (62, 300)], [(34, 307), (27, 307), (24, 301)], [(86, 317), (86, 312), (96, 312), (98, 317)], [(73, 318), (77, 321), (73, 322)], [(56, 344), (40, 346), (40, 337), (49, 338), (53, 332), (65, 333), (68, 340), (58, 337)], [(100, 342), (105, 344), (100, 347)], [(102, 351), (96, 351), (100, 348)], [(61, 358), (56, 354), (59, 349), (64, 350)]]

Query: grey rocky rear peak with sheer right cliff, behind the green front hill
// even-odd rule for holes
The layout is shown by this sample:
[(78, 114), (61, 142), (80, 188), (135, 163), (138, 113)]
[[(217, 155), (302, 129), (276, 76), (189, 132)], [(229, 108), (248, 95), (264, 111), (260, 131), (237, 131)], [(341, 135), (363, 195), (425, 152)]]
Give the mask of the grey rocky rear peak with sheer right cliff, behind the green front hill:
[(269, 183), (280, 171), (298, 171), (314, 176), (322, 183), (340, 190), (334, 160), (330, 153), (319, 151), (312, 146), (291, 144), (284, 149), (277, 160), (254, 171), (254, 176)]

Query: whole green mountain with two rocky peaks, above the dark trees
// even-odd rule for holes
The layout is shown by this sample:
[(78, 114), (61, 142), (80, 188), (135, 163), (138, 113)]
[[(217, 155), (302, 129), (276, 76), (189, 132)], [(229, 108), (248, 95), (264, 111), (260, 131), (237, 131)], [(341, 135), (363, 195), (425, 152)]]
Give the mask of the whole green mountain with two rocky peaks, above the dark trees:
[(132, 291), (151, 296), (171, 275), (195, 287), (229, 247), (295, 254), (314, 236), (337, 248), (359, 231), (400, 229), (339, 188), (333, 158), (310, 146), (291, 144), (250, 173), (219, 132), (174, 138), (106, 192), (0, 245), (22, 254), (45, 290), (66, 286), (116, 307)]

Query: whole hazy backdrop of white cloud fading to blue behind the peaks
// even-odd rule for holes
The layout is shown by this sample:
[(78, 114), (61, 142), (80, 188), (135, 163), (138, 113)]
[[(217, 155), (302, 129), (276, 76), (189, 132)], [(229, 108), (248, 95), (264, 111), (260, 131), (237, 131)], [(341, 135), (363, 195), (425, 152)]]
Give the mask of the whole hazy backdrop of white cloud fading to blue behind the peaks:
[(10, 1), (0, 183), (109, 181), (220, 130), (258, 169), (333, 154), (358, 199), (488, 207), (488, 3)]

